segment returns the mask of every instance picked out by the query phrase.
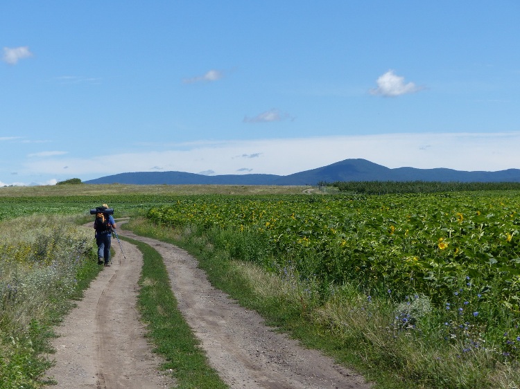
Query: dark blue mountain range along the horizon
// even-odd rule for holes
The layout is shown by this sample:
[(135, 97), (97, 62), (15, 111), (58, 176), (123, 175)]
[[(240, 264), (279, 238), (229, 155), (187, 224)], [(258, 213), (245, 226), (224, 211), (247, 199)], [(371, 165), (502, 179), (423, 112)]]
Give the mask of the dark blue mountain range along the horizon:
[(279, 176), (276, 174), (223, 174), (207, 176), (187, 172), (132, 172), (105, 176), (85, 183), (123, 183), (137, 185), (316, 185), (336, 181), (455, 181), (520, 182), (520, 170), (496, 172), (462, 171), (447, 168), (386, 168), (366, 159), (345, 159), (331, 165)]

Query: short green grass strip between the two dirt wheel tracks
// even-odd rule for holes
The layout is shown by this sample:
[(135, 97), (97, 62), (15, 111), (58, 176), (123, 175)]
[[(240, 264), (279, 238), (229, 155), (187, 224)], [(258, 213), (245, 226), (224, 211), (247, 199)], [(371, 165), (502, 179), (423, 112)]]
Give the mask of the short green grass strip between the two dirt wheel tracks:
[(207, 361), (198, 339), (177, 309), (168, 273), (161, 255), (135, 239), (122, 237), (143, 253), (144, 264), (139, 280), (139, 311), (148, 330), (153, 350), (166, 359), (163, 368), (171, 370), (176, 388), (227, 388)]

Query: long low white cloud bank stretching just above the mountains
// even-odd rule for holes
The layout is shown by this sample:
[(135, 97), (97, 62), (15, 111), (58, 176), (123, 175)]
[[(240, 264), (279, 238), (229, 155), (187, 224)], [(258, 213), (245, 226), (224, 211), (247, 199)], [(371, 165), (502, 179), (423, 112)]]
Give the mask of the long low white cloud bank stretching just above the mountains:
[[(277, 138), (250, 141), (184, 143), (176, 150), (93, 156), (89, 159), (60, 157), (28, 161), (19, 175), (56, 176), (68, 166), (67, 175), (83, 181), (123, 172), (164, 171), (236, 174), (243, 159), (259, 174), (287, 175), (320, 168), (344, 159), (360, 158), (388, 168), (451, 168), (496, 171), (520, 168), (520, 132), (498, 134), (380, 134)], [(323, 152), (327, 150), (327, 152)], [(475, 156), (478, 155), (478, 158)], [(155, 169), (150, 169), (150, 166)], [(20, 178), (19, 178), (20, 179)]]

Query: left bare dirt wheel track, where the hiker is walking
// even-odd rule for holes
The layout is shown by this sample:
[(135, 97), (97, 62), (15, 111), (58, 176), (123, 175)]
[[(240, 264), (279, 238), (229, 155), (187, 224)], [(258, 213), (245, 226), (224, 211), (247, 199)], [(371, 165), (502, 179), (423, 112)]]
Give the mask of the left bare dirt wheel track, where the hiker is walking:
[[(115, 244), (114, 244), (115, 242)], [(157, 389), (173, 381), (159, 372), (136, 308), (142, 255), (136, 246), (112, 242), (116, 254), (84, 297), (56, 328), (55, 366), (47, 377), (59, 389)]]

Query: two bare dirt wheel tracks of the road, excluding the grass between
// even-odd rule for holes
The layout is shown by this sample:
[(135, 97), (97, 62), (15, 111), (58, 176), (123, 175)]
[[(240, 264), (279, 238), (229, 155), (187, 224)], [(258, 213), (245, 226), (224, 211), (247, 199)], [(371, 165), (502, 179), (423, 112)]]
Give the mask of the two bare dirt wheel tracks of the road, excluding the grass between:
[[(363, 377), (273, 332), (254, 311), (211, 287), (182, 249), (128, 231), (119, 235), (150, 244), (162, 255), (180, 311), (230, 388), (370, 388)], [(150, 352), (135, 307), (141, 253), (121, 240), (124, 259), (114, 243), (112, 266), (58, 328), (56, 365), (47, 375), (60, 389), (174, 388), (157, 369), (161, 360)]]

